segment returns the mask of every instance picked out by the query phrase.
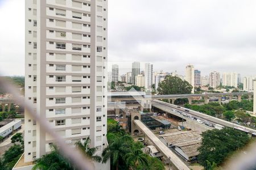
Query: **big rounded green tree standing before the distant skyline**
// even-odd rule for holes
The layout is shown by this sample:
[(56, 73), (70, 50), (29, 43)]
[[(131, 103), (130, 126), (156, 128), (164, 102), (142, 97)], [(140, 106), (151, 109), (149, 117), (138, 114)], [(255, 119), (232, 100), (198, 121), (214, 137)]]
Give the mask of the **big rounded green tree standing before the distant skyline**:
[(167, 75), (163, 82), (159, 83), (158, 93), (160, 95), (191, 94), (193, 87), (187, 81), (177, 76)]

